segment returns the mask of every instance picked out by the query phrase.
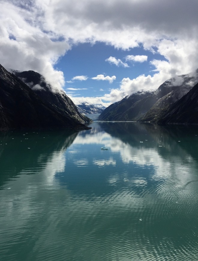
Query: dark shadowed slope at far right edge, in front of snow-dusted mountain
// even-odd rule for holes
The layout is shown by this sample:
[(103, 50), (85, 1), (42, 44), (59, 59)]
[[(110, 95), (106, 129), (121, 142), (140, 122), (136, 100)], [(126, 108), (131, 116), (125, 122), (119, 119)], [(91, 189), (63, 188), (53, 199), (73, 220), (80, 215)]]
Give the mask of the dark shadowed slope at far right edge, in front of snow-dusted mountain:
[(198, 124), (198, 83), (160, 119), (161, 123)]

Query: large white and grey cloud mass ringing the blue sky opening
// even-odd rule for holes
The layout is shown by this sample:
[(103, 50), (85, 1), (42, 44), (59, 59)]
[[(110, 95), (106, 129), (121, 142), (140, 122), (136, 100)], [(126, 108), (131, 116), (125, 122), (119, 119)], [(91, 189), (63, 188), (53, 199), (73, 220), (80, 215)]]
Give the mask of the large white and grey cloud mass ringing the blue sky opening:
[[(120, 88), (105, 96), (107, 101), (144, 86), (157, 88), (197, 68), (198, 1), (29, 0), (27, 5), (25, 0), (1, 0), (0, 10), (1, 64), (35, 70), (54, 90), (65, 83), (63, 72), (55, 68), (58, 59), (78, 43), (101, 41), (123, 50), (143, 46), (165, 57), (151, 61), (153, 76), (123, 79)], [(121, 66), (122, 61), (114, 61)]]

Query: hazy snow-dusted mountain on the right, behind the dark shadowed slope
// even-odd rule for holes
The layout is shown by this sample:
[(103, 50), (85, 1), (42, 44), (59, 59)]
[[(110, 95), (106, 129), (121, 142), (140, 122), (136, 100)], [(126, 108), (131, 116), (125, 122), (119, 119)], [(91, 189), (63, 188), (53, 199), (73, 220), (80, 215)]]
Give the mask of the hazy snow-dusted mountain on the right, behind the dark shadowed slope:
[(111, 104), (98, 120), (158, 122), (197, 82), (198, 70), (168, 79), (156, 91), (136, 92)]

